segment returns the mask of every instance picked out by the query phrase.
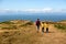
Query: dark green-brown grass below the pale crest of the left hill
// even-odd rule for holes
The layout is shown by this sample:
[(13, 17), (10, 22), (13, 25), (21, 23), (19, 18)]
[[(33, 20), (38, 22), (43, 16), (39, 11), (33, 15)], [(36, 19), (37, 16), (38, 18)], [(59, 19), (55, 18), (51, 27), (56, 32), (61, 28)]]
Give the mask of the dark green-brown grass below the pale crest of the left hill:
[(10, 22), (10, 21), (4, 21), (4, 22), (0, 22), (0, 29), (1, 30), (16, 30), (16, 29), (20, 29), (22, 26), (29, 26), (29, 25), (33, 25), (33, 22), (32, 21), (29, 21), (26, 23), (23, 23), (23, 24), (20, 24), (18, 25), (18, 23), (13, 23), (13, 22)]

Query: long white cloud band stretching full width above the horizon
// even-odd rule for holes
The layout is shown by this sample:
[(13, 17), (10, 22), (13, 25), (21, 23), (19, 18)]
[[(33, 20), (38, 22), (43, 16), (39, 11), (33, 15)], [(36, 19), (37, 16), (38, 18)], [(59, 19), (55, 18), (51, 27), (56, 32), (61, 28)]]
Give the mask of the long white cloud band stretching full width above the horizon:
[(61, 12), (66, 13), (66, 9), (53, 9), (53, 8), (44, 8), (44, 9), (0, 9), (0, 13), (12, 13), (12, 12), (28, 12), (28, 13), (54, 13), (54, 12)]

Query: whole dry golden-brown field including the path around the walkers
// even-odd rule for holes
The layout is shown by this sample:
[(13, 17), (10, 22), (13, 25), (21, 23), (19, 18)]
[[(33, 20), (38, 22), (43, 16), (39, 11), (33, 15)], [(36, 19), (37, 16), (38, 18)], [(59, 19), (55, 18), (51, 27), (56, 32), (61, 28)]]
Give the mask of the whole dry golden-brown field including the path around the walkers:
[(50, 32), (36, 32), (32, 21), (0, 22), (0, 44), (66, 44), (66, 33), (50, 24)]

